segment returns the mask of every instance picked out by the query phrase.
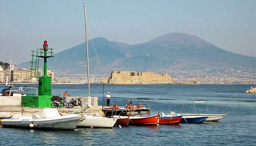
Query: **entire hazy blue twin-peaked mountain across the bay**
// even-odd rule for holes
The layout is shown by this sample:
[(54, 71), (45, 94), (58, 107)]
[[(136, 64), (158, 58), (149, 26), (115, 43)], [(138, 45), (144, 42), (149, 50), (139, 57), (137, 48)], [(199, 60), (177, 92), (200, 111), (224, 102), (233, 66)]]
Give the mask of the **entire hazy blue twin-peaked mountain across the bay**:
[[(190, 34), (172, 32), (151, 41), (129, 45), (127, 43), (94, 38), (89, 41), (89, 59), (92, 72), (111, 70), (159, 70), (196, 65), (256, 68), (256, 57), (225, 51), (203, 39)], [(95, 48), (95, 50), (94, 50)], [(85, 43), (49, 58), (53, 70), (84, 71)], [(42, 61), (41, 61), (42, 62)], [(29, 66), (25, 62), (20, 67)]]

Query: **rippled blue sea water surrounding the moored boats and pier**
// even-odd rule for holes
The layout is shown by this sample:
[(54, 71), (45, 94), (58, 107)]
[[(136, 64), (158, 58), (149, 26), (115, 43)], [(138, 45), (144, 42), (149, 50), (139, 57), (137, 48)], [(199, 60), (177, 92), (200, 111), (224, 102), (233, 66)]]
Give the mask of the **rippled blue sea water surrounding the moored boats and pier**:
[[(20, 85), (23, 86), (23, 85)], [(37, 87), (37, 85), (26, 85)], [(159, 111), (192, 113), (192, 101), (204, 100), (212, 114), (227, 113), (219, 122), (158, 126), (27, 130), (0, 127), (0, 145), (256, 145), (256, 95), (245, 91), (253, 85), (105, 85), (112, 99), (148, 98), (151, 114)], [(52, 85), (53, 95), (64, 91), (86, 96), (86, 85)], [(91, 96), (102, 103), (102, 84), (91, 85)], [(135, 102), (135, 100), (134, 100)], [(171, 104), (170, 104), (171, 102)], [(171, 106), (170, 106), (171, 105)], [(204, 113), (204, 104), (195, 105)]]

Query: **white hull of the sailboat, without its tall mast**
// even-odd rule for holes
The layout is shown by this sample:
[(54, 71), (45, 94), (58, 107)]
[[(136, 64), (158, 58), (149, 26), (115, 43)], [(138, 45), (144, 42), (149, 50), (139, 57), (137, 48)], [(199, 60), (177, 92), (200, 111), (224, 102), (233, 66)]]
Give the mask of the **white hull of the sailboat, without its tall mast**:
[(116, 118), (106, 118), (101, 116), (86, 115), (78, 126), (93, 128), (112, 128), (116, 123)]

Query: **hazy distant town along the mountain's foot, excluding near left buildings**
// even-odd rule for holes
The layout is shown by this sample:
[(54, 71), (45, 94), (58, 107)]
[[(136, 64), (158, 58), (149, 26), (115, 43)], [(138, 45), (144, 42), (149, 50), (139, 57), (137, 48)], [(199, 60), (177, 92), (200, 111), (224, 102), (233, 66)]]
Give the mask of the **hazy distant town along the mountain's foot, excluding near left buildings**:
[[(125, 71), (125, 69), (120, 69)], [(198, 68), (174, 68), (159, 69), (155, 73), (168, 73), (176, 83), (191, 83), (196, 81), (201, 84), (255, 84), (256, 70), (252, 68), (221, 68), (218, 66), (200, 66)], [(94, 73), (90, 76), (90, 81), (100, 83), (102, 80), (108, 80), (111, 72)], [(85, 83), (85, 73), (72, 73), (71, 70), (55, 71), (56, 82)]]

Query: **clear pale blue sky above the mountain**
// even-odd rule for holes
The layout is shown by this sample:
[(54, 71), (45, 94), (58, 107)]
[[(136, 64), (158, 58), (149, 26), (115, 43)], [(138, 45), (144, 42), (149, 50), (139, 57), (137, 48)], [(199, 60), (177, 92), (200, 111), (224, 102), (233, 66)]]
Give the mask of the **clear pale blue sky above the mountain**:
[(44, 39), (54, 53), (83, 43), (83, 5), (89, 39), (133, 45), (184, 32), (256, 57), (256, 0), (0, 0), (0, 61), (29, 61)]

